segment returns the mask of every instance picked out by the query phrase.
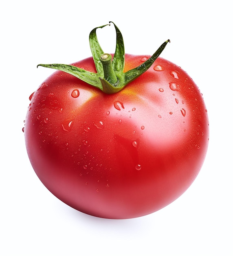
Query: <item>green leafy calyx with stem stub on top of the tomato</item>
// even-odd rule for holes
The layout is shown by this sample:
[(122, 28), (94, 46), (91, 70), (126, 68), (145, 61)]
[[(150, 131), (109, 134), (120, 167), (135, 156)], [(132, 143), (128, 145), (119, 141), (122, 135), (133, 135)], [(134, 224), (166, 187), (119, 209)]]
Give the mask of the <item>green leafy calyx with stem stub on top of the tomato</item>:
[(157, 51), (141, 65), (132, 70), (128, 70), (127, 72), (123, 72), (125, 66), (125, 48), (123, 37), (119, 28), (116, 27), (112, 21), (109, 23), (112, 23), (116, 30), (116, 49), (113, 57), (111, 54), (106, 54), (103, 52), (96, 35), (96, 30), (98, 28), (103, 28), (107, 25), (110, 26), (110, 24), (92, 29), (89, 35), (90, 49), (97, 73), (89, 72), (79, 67), (66, 64), (39, 64), (37, 67), (42, 66), (61, 70), (81, 79), (82, 81), (100, 89), (107, 94), (119, 92), (128, 83), (132, 82), (149, 69), (156, 58), (158, 58), (161, 52), (163, 52), (163, 49), (167, 43), (170, 42), (170, 40), (168, 39), (162, 45), (160, 45)]

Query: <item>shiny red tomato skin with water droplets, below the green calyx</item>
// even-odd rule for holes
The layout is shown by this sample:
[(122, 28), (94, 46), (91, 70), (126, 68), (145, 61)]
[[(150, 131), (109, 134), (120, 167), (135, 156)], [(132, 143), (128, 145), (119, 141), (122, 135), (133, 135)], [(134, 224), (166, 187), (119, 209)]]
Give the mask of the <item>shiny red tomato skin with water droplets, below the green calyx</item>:
[[(149, 56), (125, 54), (125, 71)], [(95, 72), (92, 58), (74, 63)], [(25, 119), (35, 173), (57, 198), (112, 219), (153, 213), (184, 193), (207, 153), (209, 123), (197, 85), (158, 58), (116, 94), (56, 71)]]

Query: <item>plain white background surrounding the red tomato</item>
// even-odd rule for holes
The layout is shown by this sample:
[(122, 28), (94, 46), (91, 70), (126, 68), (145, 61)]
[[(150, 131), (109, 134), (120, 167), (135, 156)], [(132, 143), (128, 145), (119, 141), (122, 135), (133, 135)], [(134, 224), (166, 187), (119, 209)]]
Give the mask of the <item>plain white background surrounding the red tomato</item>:
[[(88, 216), (55, 198), (35, 175), (22, 132), (29, 95), (53, 72), (36, 65), (89, 57), (90, 31), (110, 20), (127, 53), (153, 54), (169, 38), (162, 57), (189, 73), (209, 113), (195, 182), (164, 209), (130, 220)], [(229, 0), (2, 1), (0, 255), (232, 256), (232, 24)], [(100, 30), (102, 48), (114, 52), (113, 26)]]

